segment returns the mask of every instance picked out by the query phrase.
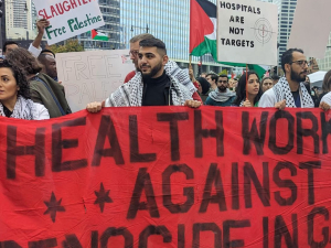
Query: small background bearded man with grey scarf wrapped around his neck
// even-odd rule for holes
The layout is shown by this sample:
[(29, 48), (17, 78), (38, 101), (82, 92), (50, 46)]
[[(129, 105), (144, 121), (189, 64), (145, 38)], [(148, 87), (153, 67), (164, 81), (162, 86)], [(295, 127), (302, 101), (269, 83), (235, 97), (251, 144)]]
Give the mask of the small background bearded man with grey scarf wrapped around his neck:
[(220, 75), (217, 88), (210, 93), (205, 105), (226, 107), (231, 106), (236, 94), (228, 89), (228, 79), (226, 75)]

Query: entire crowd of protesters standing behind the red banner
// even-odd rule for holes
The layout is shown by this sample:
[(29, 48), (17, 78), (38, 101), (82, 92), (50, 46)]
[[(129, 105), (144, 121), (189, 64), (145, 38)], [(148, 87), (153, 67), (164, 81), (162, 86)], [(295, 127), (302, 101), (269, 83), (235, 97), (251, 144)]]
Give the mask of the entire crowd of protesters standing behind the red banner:
[[(3, 45), (0, 57), (0, 115), (41, 120), (71, 114), (65, 90), (57, 80), (55, 54), (40, 47), (46, 20), (38, 22), (39, 34), (29, 50), (12, 41)], [(266, 76), (248, 71), (239, 78), (225, 74), (202, 73), (195, 78), (169, 60), (166, 44), (151, 34), (130, 40), (130, 58), (135, 71), (124, 84), (102, 103), (86, 109), (97, 112), (103, 107), (188, 106), (286, 107), (323, 110), (331, 106), (331, 71), (325, 74), (322, 94), (311, 88), (308, 62), (303, 51), (290, 48), (282, 54), (285, 76)]]

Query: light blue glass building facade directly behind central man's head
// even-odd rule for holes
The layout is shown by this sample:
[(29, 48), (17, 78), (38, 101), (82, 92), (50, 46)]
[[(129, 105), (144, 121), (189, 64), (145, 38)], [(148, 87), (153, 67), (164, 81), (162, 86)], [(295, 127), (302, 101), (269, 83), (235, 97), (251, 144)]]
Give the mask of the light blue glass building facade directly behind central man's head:
[[(216, 4), (216, 0), (210, 0)], [(120, 0), (120, 40), (129, 48), (129, 41), (140, 33), (151, 33), (167, 45), (168, 55), (180, 66), (189, 65), (190, 1), (189, 0)], [(220, 73), (211, 55), (192, 56), (194, 72), (202, 61), (202, 71)]]

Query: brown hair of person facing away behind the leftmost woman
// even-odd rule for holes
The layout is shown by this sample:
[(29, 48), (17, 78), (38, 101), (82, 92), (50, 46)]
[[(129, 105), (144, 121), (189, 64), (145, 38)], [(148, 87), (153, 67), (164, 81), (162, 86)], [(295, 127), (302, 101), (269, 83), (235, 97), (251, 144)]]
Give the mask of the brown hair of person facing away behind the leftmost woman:
[(6, 60), (23, 69), (25, 76), (38, 74), (42, 71), (42, 65), (38, 60), (28, 50), (22, 47), (13, 50), (6, 56)]

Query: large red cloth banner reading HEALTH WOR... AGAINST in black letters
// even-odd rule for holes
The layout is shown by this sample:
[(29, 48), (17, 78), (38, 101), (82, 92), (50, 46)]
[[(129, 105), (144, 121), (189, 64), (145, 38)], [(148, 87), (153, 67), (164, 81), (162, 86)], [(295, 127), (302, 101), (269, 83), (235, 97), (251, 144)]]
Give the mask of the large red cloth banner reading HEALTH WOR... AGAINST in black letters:
[(1, 118), (0, 247), (331, 247), (330, 119), (234, 107)]

